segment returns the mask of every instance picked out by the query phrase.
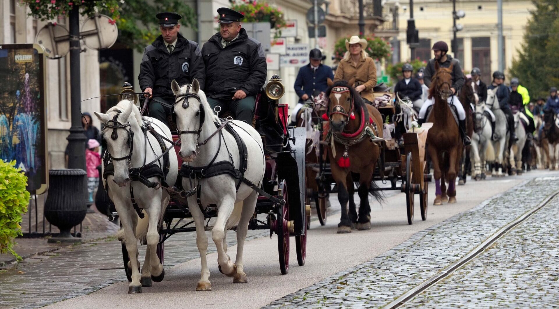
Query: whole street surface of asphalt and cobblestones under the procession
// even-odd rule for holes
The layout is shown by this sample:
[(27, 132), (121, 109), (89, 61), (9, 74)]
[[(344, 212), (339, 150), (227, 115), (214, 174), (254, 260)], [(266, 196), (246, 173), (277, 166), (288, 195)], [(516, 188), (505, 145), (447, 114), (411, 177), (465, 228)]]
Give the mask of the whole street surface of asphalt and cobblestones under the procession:
[[(535, 177), (544, 178), (530, 180)], [(244, 250), (248, 283), (233, 284), (220, 274), (217, 255), (211, 253), (211, 292), (195, 292), (200, 260), (194, 233), (170, 237), (165, 243), (165, 279), (144, 287), (143, 294), (126, 293), (128, 282), (121, 269), (118, 241), (74, 246), (43, 256), (39, 263), (26, 260), (18, 269), (0, 273), (0, 307), (378, 307), (462, 258), (557, 188), (559, 173), (538, 170), (516, 177), (468, 181), (457, 188), (457, 204), (429, 205), (427, 221), (421, 221), (416, 199), (411, 226), (406, 219), (405, 195), (386, 192), (385, 203), (372, 202), (371, 230), (342, 235), (336, 234), (339, 204), (334, 196), (326, 226), (312, 222), (304, 267), (297, 265), (292, 239), (289, 273), (281, 275), (276, 236), (270, 240), (268, 232), (253, 231)], [(429, 192), (432, 204), (434, 183)], [(502, 301), (511, 307), (530, 306), (532, 302), (557, 306), (559, 284), (553, 284), (559, 275), (553, 264), (558, 254), (559, 236), (553, 229), (559, 223), (557, 204), (555, 199), (477, 260), (406, 306), (495, 307)], [(233, 232), (228, 239), (234, 243)], [(235, 246), (228, 249), (231, 259), (235, 250)], [(551, 262), (554, 257), (555, 262)], [(481, 302), (487, 298), (494, 302)]]

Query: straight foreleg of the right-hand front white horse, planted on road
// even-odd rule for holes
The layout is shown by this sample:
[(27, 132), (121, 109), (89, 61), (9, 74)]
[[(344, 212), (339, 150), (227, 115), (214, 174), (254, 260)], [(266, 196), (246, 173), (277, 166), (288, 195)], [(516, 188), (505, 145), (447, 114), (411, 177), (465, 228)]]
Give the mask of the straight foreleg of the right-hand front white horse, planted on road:
[(204, 215), (198, 204), (196, 203), (196, 198), (191, 197), (188, 199), (188, 210), (192, 215), (194, 224), (196, 225), (196, 246), (200, 252), (200, 263), (202, 266), (200, 272), (200, 281), (198, 281), (198, 286), (196, 291), (211, 291), (210, 283), (210, 270), (208, 269), (207, 262), (207, 250), (208, 250), (208, 235), (204, 227)]

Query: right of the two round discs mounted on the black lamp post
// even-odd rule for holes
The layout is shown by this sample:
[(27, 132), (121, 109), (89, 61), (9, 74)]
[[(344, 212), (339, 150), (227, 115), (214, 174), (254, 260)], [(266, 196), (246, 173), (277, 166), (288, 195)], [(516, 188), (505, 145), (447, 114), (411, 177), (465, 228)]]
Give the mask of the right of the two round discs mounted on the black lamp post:
[(83, 42), (94, 50), (107, 49), (115, 44), (119, 36), (119, 29), (115, 21), (106, 15), (96, 14), (87, 18), (82, 25)]

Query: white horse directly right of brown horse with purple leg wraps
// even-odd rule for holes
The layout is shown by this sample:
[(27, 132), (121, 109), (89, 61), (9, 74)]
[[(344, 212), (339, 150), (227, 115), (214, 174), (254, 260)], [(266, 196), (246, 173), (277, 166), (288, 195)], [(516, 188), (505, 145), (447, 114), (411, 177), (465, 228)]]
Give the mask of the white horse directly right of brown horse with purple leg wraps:
[(485, 177), (485, 161), (488, 146), (491, 144), (491, 119), (484, 113), (485, 102), (475, 106), (473, 117), (474, 132), (472, 135), (471, 158), (473, 159), (472, 178), (480, 180)]

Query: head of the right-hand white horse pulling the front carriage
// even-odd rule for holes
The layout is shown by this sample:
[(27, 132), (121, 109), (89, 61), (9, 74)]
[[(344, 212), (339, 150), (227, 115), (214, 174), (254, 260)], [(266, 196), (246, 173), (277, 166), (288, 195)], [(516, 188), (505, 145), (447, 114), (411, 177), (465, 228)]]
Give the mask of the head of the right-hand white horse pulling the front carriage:
[(173, 79), (171, 89), (175, 95), (172, 115), (176, 119), (178, 135), (181, 137), (181, 150), (178, 154), (185, 162), (192, 162), (198, 153), (198, 139), (203, 135), (204, 123), (209, 128), (218, 118), (211, 110), (197, 79), (182, 87)]

